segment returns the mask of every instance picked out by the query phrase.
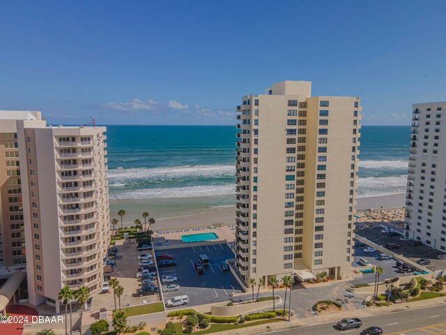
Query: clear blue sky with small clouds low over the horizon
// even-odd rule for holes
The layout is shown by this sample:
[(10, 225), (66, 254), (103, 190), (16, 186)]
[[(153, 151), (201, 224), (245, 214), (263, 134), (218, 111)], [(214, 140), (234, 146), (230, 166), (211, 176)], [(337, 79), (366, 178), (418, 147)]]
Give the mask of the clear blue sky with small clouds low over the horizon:
[(311, 80), (364, 125), (446, 100), (446, 1), (0, 2), (0, 109), (52, 124), (234, 124), (244, 94)]

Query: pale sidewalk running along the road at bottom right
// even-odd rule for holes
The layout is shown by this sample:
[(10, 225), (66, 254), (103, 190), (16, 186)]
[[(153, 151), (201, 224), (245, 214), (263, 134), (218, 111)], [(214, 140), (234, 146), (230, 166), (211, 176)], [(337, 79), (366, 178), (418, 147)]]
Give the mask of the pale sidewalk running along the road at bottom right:
[(272, 332), (285, 330), (292, 327), (307, 327), (312, 325), (321, 325), (328, 322), (337, 322), (343, 318), (367, 318), (380, 314), (407, 311), (419, 308), (426, 308), (431, 306), (438, 306), (439, 304), (446, 304), (445, 297), (438, 297), (433, 299), (426, 299), (422, 301), (413, 301), (410, 303), (394, 304), (383, 307), (367, 307), (361, 310), (345, 311), (341, 313), (330, 313), (325, 315), (316, 315), (307, 318), (293, 318), (291, 322), (272, 322), (266, 325), (259, 325), (254, 327), (247, 327), (241, 329), (230, 330), (227, 332), (220, 332), (222, 335), (256, 335), (264, 332)]

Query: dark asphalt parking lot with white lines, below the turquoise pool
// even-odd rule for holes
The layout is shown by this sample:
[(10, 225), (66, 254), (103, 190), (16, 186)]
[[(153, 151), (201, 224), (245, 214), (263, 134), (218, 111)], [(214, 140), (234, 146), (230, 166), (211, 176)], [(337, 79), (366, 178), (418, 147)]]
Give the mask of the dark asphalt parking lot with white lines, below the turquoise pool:
[[(155, 251), (156, 255), (168, 253), (174, 256), (176, 267), (159, 269), (162, 276), (176, 276), (180, 290), (164, 292), (164, 302), (171, 297), (187, 295), (189, 306), (210, 304), (230, 299), (232, 293), (242, 292), (240, 284), (231, 271), (222, 271), (220, 262), (233, 259), (234, 255), (226, 244), (210, 244), (185, 248), (171, 248)], [(199, 255), (207, 255), (209, 265), (205, 266), (204, 274), (197, 274), (194, 263), (199, 261)], [(164, 285), (163, 285), (164, 286)]]

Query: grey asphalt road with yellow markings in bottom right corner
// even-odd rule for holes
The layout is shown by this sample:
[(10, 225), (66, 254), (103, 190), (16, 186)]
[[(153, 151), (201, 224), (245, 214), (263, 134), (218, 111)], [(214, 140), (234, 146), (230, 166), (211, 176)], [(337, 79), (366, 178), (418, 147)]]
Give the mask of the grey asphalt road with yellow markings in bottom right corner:
[[(446, 334), (446, 305), (414, 309), (362, 318), (360, 329), (350, 329), (344, 332), (334, 327), (336, 322), (309, 327), (295, 327), (274, 332), (281, 335), (295, 334), (360, 334), (363, 329), (378, 326), (384, 335), (429, 335)], [(269, 334), (272, 332), (268, 332)], [(267, 333), (265, 333), (267, 334)]]

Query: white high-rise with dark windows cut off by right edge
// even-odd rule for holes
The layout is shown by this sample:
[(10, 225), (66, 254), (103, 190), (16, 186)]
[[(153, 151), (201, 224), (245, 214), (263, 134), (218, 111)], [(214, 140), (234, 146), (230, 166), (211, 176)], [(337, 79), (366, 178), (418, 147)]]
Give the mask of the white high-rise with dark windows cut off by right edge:
[(404, 231), (446, 251), (446, 102), (413, 105)]

